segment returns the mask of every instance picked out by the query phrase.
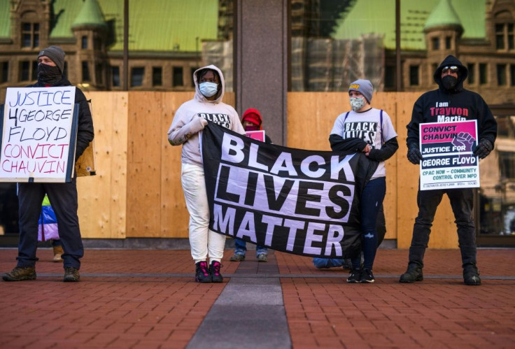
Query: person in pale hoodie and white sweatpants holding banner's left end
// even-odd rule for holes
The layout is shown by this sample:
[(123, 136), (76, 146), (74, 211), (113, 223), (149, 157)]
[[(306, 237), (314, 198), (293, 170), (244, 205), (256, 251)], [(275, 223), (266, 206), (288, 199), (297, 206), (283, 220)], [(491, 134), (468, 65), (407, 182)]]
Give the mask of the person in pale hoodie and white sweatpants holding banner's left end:
[(222, 102), (225, 86), (218, 67), (210, 65), (197, 69), (193, 73), (193, 81), (195, 97), (176, 111), (168, 130), (168, 140), (171, 145), (183, 145), (181, 183), (190, 213), (189, 237), (196, 266), (195, 280), (198, 283), (221, 283), (220, 261), (225, 248), (225, 235), (209, 229), (209, 204), (199, 134), (208, 121), (239, 134), (245, 134), (245, 130), (234, 108)]

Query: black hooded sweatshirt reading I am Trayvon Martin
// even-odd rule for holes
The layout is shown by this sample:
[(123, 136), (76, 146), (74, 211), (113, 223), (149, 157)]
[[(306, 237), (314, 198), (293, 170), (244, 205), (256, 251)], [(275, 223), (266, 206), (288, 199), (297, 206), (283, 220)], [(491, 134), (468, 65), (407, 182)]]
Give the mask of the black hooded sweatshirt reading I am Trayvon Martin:
[[(458, 66), (458, 83), (452, 90), (442, 86), (444, 66)], [(438, 90), (425, 92), (413, 106), (411, 121), (407, 124), (408, 148), (410, 145), (418, 148), (418, 124), (469, 120), (477, 120), (478, 141), (486, 138), (493, 145), (497, 137), (497, 122), (484, 99), (476, 92), (463, 88), (467, 76), (467, 68), (456, 57), (449, 55), (444, 59), (433, 75)]]

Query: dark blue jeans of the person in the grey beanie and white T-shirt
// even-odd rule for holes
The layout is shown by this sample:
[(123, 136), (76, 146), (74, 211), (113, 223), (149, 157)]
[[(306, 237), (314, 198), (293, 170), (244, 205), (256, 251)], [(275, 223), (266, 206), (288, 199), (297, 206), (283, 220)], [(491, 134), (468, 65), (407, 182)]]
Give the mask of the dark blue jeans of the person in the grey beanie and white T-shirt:
[[(360, 199), (361, 250), (363, 251), (363, 268), (372, 270), (377, 250), (376, 220), (379, 208), (386, 194), (386, 178), (369, 180)], [(352, 269), (360, 269), (360, 255), (352, 259)]]

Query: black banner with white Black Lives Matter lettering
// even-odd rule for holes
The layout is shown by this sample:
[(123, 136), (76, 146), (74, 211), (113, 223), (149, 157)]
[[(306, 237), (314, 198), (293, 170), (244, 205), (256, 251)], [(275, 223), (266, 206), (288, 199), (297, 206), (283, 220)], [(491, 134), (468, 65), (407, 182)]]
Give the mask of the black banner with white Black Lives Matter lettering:
[(359, 198), (377, 162), (264, 143), (212, 122), (202, 157), (214, 232), (295, 255), (358, 254)]

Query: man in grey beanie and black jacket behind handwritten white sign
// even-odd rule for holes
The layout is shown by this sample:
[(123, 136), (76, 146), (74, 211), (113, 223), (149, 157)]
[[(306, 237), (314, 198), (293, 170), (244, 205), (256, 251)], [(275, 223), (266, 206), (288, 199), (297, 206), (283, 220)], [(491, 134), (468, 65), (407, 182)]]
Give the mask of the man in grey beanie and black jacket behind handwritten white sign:
[[(65, 87), (71, 86), (64, 77), (64, 51), (58, 46), (50, 46), (39, 52), (38, 81), (28, 87)], [(47, 102), (45, 102), (47, 103)], [(51, 104), (51, 102), (48, 102)], [(78, 104), (78, 131), (75, 157), (78, 159), (94, 137), (93, 120), (83, 92), (75, 88), (75, 104)], [(17, 266), (3, 275), (5, 281), (36, 279), (36, 248), (38, 245), (38, 218), (41, 202), (48, 194), (57, 217), (59, 235), (64, 248), (64, 281), (80, 280), (80, 258), (84, 255), (82, 238), (77, 215), (76, 175), (68, 183), (18, 183), (20, 208), (20, 242), (18, 243)]]

